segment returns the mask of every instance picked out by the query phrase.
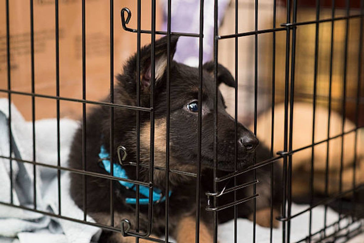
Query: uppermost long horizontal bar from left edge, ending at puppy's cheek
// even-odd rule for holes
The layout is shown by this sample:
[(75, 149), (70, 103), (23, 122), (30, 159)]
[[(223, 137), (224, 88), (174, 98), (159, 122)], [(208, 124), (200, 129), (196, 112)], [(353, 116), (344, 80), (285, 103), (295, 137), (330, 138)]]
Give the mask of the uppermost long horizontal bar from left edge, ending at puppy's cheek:
[(75, 102), (94, 104), (94, 105), (119, 107), (119, 108), (132, 109), (132, 110), (137, 110), (137, 111), (148, 111), (148, 112), (153, 111), (153, 107), (150, 107), (150, 108), (149, 107), (138, 107), (138, 106), (134, 106), (134, 105), (114, 104), (114, 103), (109, 103), (109, 102), (66, 98), (66, 97), (53, 96), (53, 95), (41, 95), (41, 94), (37, 94), (37, 93), (20, 92), (20, 91), (7, 90), (7, 89), (0, 89), (0, 92), (13, 93), (13, 94), (17, 94), (17, 95), (41, 97), (41, 98), (47, 98), (47, 99), (55, 99), (55, 100), (75, 101)]

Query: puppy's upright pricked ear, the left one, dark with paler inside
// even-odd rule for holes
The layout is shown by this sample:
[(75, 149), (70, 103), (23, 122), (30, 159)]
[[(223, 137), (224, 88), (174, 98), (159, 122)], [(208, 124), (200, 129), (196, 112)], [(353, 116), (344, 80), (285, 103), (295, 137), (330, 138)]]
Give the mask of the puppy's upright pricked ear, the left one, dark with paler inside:
[[(171, 36), (170, 44), (170, 60), (173, 59), (176, 51), (178, 36)], [(155, 81), (161, 79), (167, 68), (167, 36), (155, 41)], [(152, 74), (151, 74), (151, 44), (141, 48), (140, 51), (141, 61), (141, 87), (146, 90), (150, 87)], [(137, 75), (137, 54), (129, 59), (128, 64), (124, 67), (124, 74), (132, 76), (132, 80), (136, 80)], [(135, 84), (134, 84), (135, 85)], [(136, 86), (135, 86), (136, 87)]]

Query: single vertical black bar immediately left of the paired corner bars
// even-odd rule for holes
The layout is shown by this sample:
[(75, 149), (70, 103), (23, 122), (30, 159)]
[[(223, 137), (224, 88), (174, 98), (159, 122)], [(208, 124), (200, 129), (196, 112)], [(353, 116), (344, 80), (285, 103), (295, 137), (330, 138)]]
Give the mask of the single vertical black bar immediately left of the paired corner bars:
[[(277, 1), (273, 1), (273, 29), (276, 28), (276, 9)], [(274, 147), (274, 105), (275, 105), (275, 91), (276, 91), (276, 32), (273, 32), (273, 45), (272, 45), (272, 124), (270, 134), (270, 157), (273, 158)], [(273, 200), (274, 200), (274, 163), (270, 163), (270, 236), (269, 242), (273, 240)]]

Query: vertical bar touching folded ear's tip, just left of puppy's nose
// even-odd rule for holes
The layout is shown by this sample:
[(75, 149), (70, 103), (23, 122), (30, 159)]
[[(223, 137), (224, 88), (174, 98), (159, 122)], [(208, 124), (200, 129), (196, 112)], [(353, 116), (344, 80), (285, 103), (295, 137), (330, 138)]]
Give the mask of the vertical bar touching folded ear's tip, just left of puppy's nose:
[[(238, 33), (238, 10), (239, 1), (235, 0), (235, 34)], [(235, 158), (234, 171), (237, 171), (238, 163), (238, 37), (235, 37)], [(234, 176), (234, 187), (237, 186), (236, 176)], [(236, 190), (234, 190), (234, 202), (236, 202)], [(237, 243), (238, 238), (238, 207), (234, 205), (234, 243)]]

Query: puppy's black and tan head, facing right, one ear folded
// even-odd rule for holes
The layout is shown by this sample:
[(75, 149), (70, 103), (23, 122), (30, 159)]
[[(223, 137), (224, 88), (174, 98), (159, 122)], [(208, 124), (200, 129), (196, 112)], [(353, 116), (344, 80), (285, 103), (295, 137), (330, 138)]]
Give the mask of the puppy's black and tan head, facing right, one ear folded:
[[(161, 154), (161, 165), (165, 163), (166, 151), (166, 113), (167, 113), (167, 58), (170, 58), (170, 155), (180, 168), (194, 166), (198, 155), (198, 111), (202, 110), (202, 146), (201, 161), (204, 167), (214, 165), (214, 123), (215, 123), (215, 85), (214, 63), (203, 65), (202, 104), (198, 103), (199, 70), (173, 61), (178, 37), (171, 36), (170, 56), (167, 56), (167, 37), (155, 42), (155, 156)], [(140, 52), (140, 93), (141, 106), (150, 106), (151, 94), (151, 46), (147, 45)], [(218, 84), (225, 83), (234, 87), (235, 81), (231, 73), (222, 65), (218, 65)], [(131, 99), (137, 96), (137, 55), (131, 57), (118, 76), (122, 92), (127, 92)], [(253, 162), (254, 150), (258, 140), (254, 134), (237, 123), (237, 139), (235, 136), (235, 120), (226, 112), (221, 92), (217, 91), (217, 166), (219, 170), (234, 170), (235, 143), (237, 142), (238, 168), (249, 166)], [(149, 148), (150, 116), (141, 112), (141, 150)], [(236, 141), (237, 140), (237, 141)]]

